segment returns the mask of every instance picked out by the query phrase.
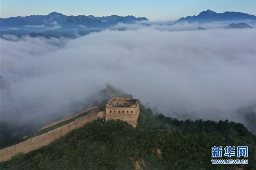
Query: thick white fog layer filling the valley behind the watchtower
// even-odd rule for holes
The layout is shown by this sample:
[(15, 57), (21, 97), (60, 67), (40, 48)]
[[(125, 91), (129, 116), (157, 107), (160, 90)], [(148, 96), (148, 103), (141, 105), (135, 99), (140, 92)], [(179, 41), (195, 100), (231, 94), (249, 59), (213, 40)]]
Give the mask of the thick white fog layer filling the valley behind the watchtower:
[(0, 41), (1, 120), (40, 124), (110, 82), (167, 116), (239, 121), (233, 111), (256, 104), (256, 30), (169, 30), (6, 36)]

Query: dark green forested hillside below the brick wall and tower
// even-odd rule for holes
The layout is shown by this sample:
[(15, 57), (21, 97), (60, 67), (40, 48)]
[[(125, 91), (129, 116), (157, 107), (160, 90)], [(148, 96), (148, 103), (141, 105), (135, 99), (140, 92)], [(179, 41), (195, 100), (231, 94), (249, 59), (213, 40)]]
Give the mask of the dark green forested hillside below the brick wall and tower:
[[(248, 146), (249, 164), (213, 165), (212, 146)], [(48, 146), (0, 164), (1, 170), (129, 170), (135, 167), (147, 170), (234, 170), (238, 167), (255, 170), (256, 136), (243, 124), (179, 121), (153, 114), (141, 105), (136, 128), (119, 120), (104, 122), (98, 119)]]

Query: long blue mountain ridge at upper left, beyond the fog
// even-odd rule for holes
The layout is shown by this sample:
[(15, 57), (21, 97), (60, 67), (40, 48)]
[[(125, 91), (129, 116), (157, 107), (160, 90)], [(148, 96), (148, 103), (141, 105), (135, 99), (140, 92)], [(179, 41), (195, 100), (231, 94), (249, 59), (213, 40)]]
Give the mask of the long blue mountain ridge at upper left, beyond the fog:
[[(17, 16), (10, 18), (0, 18), (1, 27), (20, 27), (20, 26), (54, 26), (63, 25), (67, 20), (73, 21), (74, 24), (85, 25), (87, 27), (108, 27), (115, 24), (115, 21), (122, 19), (124, 23), (130, 23), (135, 21), (148, 20), (145, 17), (135, 17), (133, 15), (128, 16), (103, 16), (94, 17), (93, 15), (78, 15), (67, 16), (62, 13), (51, 12), (48, 15), (29, 15), (29, 16)], [(102, 20), (107, 22), (101, 22)]]

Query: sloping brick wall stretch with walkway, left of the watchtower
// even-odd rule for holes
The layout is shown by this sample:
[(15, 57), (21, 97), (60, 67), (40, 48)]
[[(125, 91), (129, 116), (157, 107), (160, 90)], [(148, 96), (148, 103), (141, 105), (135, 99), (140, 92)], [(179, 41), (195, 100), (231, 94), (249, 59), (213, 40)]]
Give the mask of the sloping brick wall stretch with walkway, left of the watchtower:
[(30, 151), (37, 150), (42, 146), (46, 146), (59, 137), (66, 135), (70, 131), (97, 120), (97, 118), (105, 118), (105, 111), (102, 111), (100, 107), (92, 107), (73, 117), (65, 118), (53, 124), (49, 124), (33, 133), (31, 138), (20, 142), (19, 144), (1, 149), (0, 162), (8, 161), (19, 153), (25, 154)]

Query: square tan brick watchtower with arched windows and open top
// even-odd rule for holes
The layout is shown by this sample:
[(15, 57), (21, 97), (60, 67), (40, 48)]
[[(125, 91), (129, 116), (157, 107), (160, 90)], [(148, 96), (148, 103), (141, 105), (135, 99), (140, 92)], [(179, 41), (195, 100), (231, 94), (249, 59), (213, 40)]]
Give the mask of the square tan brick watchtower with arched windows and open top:
[(106, 121), (120, 119), (136, 127), (139, 114), (140, 101), (138, 99), (112, 97), (106, 104)]

